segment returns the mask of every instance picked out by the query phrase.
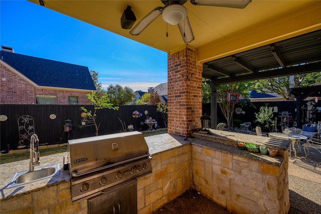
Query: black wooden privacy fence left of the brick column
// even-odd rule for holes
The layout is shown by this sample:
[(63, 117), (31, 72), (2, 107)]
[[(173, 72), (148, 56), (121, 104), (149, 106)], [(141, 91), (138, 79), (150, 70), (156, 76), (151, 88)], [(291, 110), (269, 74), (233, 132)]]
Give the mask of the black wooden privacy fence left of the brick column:
[[(80, 128), (81, 116), (83, 112), (80, 107), (83, 105), (42, 105), (42, 104), (1, 104), (0, 115), (7, 120), (0, 121), (1, 129), (1, 151), (16, 149), (19, 142), (18, 118), (23, 115), (30, 115), (34, 118), (35, 133), (38, 135), (40, 143), (56, 144), (63, 143), (69, 139), (85, 138), (95, 136), (94, 126)], [(155, 105), (116, 105), (119, 110), (101, 109), (97, 110), (97, 124), (100, 123), (98, 135), (124, 132), (122, 124), (118, 118), (128, 125), (134, 126), (134, 131), (146, 130), (147, 125), (140, 125), (148, 116), (157, 121), (158, 127), (164, 128), (161, 113), (157, 112)], [(86, 109), (94, 111), (93, 105), (85, 105)], [(132, 113), (138, 111), (142, 114), (139, 118), (133, 118)], [(4, 117), (5, 116), (5, 117)], [(64, 132), (66, 120), (71, 120), (72, 130)], [(28, 125), (27, 125), (28, 126)], [(28, 129), (28, 127), (27, 127)], [(128, 130), (127, 130), (128, 131)]]

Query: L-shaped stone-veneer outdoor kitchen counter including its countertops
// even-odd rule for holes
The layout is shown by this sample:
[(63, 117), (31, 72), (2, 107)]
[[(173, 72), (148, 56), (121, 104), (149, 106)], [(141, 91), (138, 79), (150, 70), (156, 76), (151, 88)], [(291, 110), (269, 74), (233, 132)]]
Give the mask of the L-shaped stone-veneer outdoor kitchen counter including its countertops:
[[(212, 135), (194, 133), (196, 138), (171, 134), (145, 137), (152, 156), (153, 172), (137, 179), (138, 213), (149, 214), (192, 186), (231, 211), (242, 206), (247, 213), (285, 213), (288, 210), (289, 141), (212, 132)], [(278, 157), (239, 150), (235, 140), (277, 148)], [(86, 200), (71, 201), (70, 176), (68, 170), (62, 169), (63, 157), (67, 157), (66, 152), (44, 157), (40, 153), (41, 163), (36, 169), (59, 163), (60, 174), (9, 189), (5, 187), (14, 172), (27, 170), (29, 160), (0, 165), (1, 212), (24, 210), (33, 213), (41, 210), (55, 214), (64, 210), (65, 213), (86, 213)], [(252, 176), (258, 180), (246, 181)], [(257, 184), (262, 182), (263, 187), (258, 187)], [(270, 189), (271, 185), (275, 187)], [(271, 208), (267, 208), (270, 205)]]

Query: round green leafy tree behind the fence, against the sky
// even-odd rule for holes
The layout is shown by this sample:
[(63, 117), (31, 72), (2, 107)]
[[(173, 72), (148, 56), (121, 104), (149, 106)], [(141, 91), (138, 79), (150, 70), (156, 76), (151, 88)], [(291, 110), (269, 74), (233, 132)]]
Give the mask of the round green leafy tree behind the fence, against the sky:
[(135, 96), (133, 90), (125, 86), (124, 88), (121, 85), (109, 85), (107, 88), (107, 94), (110, 96), (110, 102), (115, 105), (124, 105), (131, 102)]

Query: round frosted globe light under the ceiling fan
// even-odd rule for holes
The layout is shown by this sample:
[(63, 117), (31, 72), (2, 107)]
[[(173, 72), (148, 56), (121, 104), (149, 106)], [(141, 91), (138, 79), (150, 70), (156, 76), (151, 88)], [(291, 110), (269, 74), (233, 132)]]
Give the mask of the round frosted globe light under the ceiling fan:
[(163, 20), (171, 25), (183, 22), (187, 17), (187, 10), (181, 5), (170, 5), (163, 10)]

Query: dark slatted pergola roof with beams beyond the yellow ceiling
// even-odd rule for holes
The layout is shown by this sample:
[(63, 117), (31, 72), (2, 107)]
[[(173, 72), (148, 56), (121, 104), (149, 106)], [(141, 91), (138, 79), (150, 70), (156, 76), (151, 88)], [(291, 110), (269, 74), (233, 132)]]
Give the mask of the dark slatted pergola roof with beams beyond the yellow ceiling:
[(321, 30), (203, 64), (203, 77), (215, 84), (317, 71), (321, 71)]

